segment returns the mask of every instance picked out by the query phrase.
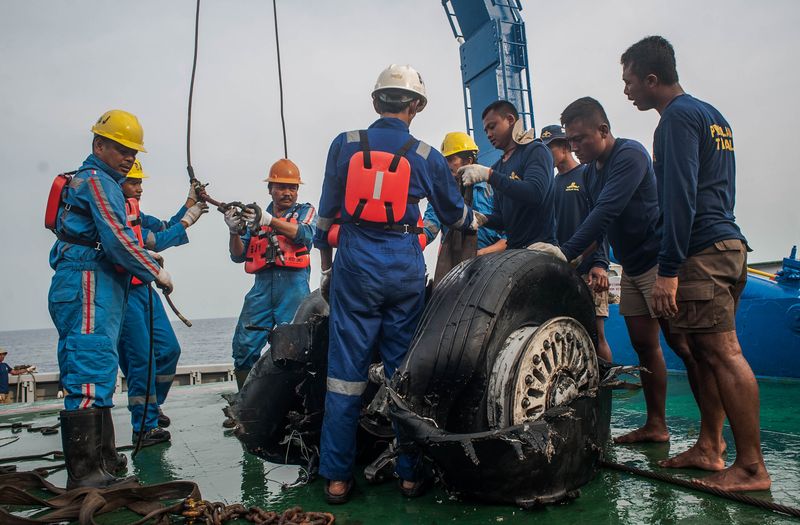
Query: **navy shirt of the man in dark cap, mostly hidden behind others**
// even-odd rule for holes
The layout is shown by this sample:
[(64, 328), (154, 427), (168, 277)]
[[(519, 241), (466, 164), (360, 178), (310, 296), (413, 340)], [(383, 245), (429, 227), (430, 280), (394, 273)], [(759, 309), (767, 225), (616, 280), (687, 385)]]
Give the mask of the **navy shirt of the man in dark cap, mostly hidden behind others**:
[[(586, 164), (579, 164), (566, 173), (556, 174), (556, 239), (559, 243), (570, 240), (591, 211), (585, 172)], [(583, 275), (595, 266), (608, 269), (608, 243), (605, 240), (592, 257), (587, 257), (578, 266), (577, 271)]]

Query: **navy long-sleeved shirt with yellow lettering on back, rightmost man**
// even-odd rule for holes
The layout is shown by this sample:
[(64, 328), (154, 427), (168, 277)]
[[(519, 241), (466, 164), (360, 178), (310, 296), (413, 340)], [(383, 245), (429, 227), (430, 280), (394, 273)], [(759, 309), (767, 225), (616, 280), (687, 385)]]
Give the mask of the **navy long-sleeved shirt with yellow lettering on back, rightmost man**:
[(680, 95), (664, 109), (653, 137), (662, 212), (658, 273), (674, 277), (690, 257), (717, 241), (741, 239), (733, 207), (733, 132), (710, 104)]

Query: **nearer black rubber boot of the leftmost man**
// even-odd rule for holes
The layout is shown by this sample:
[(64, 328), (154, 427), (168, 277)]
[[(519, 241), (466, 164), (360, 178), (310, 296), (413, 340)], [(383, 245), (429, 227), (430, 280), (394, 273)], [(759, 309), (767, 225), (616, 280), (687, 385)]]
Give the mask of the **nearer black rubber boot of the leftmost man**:
[(115, 477), (104, 467), (101, 409), (62, 410), (59, 420), (64, 463), (67, 466), (67, 490), (105, 488), (129, 480)]

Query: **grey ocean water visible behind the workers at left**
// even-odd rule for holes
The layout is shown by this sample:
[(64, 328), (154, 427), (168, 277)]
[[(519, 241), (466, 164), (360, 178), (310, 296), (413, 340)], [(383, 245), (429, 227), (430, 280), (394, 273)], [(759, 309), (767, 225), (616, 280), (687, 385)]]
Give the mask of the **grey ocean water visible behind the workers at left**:
[[(189, 328), (180, 321), (172, 323), (181, 343), (178, 365), (228, 363), (231, 358), (231, 338), (236, 318), (193, 319)], [(36, 365), (39, 372), (58, 372), (55, 328), (39, 330), (0, 331), (0, 347), (8, 351), (6, 362), (11, 365)]]

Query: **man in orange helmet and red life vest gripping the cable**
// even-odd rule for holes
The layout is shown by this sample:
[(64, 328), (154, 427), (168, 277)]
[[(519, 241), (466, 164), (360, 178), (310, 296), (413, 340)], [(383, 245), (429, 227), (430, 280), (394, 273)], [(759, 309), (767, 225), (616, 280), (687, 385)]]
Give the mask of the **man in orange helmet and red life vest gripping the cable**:
[[(291, 321), (309, 294), (308, 254), (317, 217), (311, 204), (297, 202), (297, 191), (303, 183), (300, 169), (289, 159), (280, 159), (272, 165), (264, 182), (272, 202), (264, 211), (250, 212), (257, 211), (260, 217), (255, 213), (240, 215), (235, 208), (225, 214), (230, 229), (231, 260), (245, 263), (245, 271), (256, 276), (253, 288), (244, 298), (233, 334), (233, 366), (240, 389), (261, 356), (272, 328)], [(254, 221), (259, 224), (253, 224)], [(282, 258), (269, 246), (270, 239), (275, 238), (272, 234), (282, 241)], [(270, 255), (265, 257), (265, 253)]]

